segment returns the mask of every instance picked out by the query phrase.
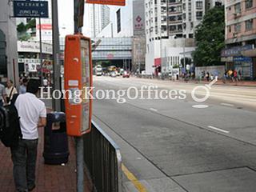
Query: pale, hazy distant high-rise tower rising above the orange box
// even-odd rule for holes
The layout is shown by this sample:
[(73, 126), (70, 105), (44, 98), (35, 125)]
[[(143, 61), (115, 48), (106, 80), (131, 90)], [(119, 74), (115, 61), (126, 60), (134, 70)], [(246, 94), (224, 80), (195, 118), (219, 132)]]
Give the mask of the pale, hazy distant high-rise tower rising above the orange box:
[(110, 23), (110, 7), (106, 5), (85, 4), (84, 34), (97, 37)]

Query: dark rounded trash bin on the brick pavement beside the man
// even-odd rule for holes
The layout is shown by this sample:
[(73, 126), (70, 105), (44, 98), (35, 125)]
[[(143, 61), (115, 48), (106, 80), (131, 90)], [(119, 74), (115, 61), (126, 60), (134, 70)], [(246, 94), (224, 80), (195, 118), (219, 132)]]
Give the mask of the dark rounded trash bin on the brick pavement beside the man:
[(43, 158), (46, 164), (58, 165), (68, 162), (70, 152), (66, 134), (66, 115), (62, 112), (47, 114), (44, 130)]

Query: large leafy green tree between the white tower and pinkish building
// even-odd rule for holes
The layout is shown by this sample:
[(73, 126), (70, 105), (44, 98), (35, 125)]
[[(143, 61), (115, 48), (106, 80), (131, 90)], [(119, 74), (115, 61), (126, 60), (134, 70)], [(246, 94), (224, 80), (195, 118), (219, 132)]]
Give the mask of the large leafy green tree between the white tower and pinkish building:
[(224, 6), (215, 6), (206, 12), (195, 31), (196, 50), (192, 57), (195, 66), (222, 65), (221, 51), (225, 47)]

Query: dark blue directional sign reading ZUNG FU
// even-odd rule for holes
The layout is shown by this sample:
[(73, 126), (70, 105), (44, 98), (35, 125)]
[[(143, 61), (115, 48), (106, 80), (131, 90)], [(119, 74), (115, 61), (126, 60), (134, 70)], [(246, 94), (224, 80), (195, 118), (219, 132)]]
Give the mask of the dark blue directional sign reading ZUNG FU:
[(14, 1), (15, 18), (48, 18), (48, 2)]

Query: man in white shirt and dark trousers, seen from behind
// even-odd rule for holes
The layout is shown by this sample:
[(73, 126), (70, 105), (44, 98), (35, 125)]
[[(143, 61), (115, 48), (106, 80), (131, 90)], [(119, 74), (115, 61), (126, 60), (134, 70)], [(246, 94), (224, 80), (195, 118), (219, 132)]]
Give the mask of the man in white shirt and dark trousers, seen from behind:
[(37, 98), (40, 82), (31, 79), (26, 94), (18, 96), (15, 106), (20, 117), (22, 139), (11, 148), (16, 190), (27, 192), (35, 187), (35, 167), (38, 148), (38, 128), (46, 126), (46, 106)]

